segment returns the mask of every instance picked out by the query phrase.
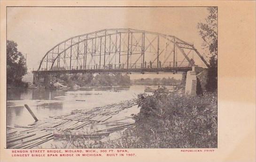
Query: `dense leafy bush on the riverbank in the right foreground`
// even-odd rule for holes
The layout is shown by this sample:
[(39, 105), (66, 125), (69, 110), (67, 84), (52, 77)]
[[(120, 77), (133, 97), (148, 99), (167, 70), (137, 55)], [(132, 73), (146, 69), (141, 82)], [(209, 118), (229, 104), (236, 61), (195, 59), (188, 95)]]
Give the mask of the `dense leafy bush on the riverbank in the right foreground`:
[(135, 127), (125, 132), (126, 148), (217, 147), (217, 94), (139, 96)]

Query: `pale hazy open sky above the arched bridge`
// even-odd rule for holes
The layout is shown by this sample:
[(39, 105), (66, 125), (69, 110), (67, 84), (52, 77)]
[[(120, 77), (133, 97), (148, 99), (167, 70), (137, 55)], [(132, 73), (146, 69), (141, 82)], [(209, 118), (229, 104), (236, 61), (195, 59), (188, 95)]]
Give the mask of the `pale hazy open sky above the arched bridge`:
[(202, 54), (197, 24), (206, 8), (17, 8), (7, 9), (7, 39), (27, 54), (29, 70), (37, 69), (46, 52), (73, 36), (110, 28), (132, 28), (170, 34), (193, 43)]

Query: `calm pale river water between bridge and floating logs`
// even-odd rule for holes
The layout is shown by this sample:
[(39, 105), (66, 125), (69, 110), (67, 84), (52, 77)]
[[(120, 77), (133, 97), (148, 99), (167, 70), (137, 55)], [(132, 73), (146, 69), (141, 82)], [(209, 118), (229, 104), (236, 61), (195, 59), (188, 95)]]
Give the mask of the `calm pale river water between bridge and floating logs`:
[[(143, 93), (145, 85), (81, 88), (79, 90), (8, 90), (7, 125), (27, 125), (34, 123), (24, 104), (39, 120), (49, 116), (69, 113), (74, 109), (91, 109), (122, 100), (136, 98)], [(157, 86), (150, 86), (157, 88)], [(171, 87), (167, 87), (170, 88)]]

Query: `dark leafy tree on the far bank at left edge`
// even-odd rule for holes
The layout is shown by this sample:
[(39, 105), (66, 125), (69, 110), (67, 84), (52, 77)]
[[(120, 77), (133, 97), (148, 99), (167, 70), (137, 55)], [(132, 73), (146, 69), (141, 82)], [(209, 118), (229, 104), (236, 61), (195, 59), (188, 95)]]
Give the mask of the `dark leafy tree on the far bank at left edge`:
[(25, 57), (17, 49), (17, 43), (7, 40), (7, 84), (23, 85), (22, 76), (26, 74)]

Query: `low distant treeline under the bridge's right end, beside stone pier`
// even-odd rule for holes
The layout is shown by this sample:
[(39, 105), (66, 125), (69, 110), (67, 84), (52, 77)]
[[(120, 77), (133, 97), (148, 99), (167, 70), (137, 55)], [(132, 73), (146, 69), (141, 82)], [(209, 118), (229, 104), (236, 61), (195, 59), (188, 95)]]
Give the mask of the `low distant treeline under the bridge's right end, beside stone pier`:
[(180, 84), (180, 81), (179, 79), (175, 79), (174, 77), (168, 77), (168, 78), (165, 78), (163, 77), (162, 79), (161, 78), (154, 78), (154, 79), (151, 79), (151, 78), (141, 78), (141, 79), (134, 79), (132, 80), (132, 84), (134, 85), (177, 85), (177, 84)]

